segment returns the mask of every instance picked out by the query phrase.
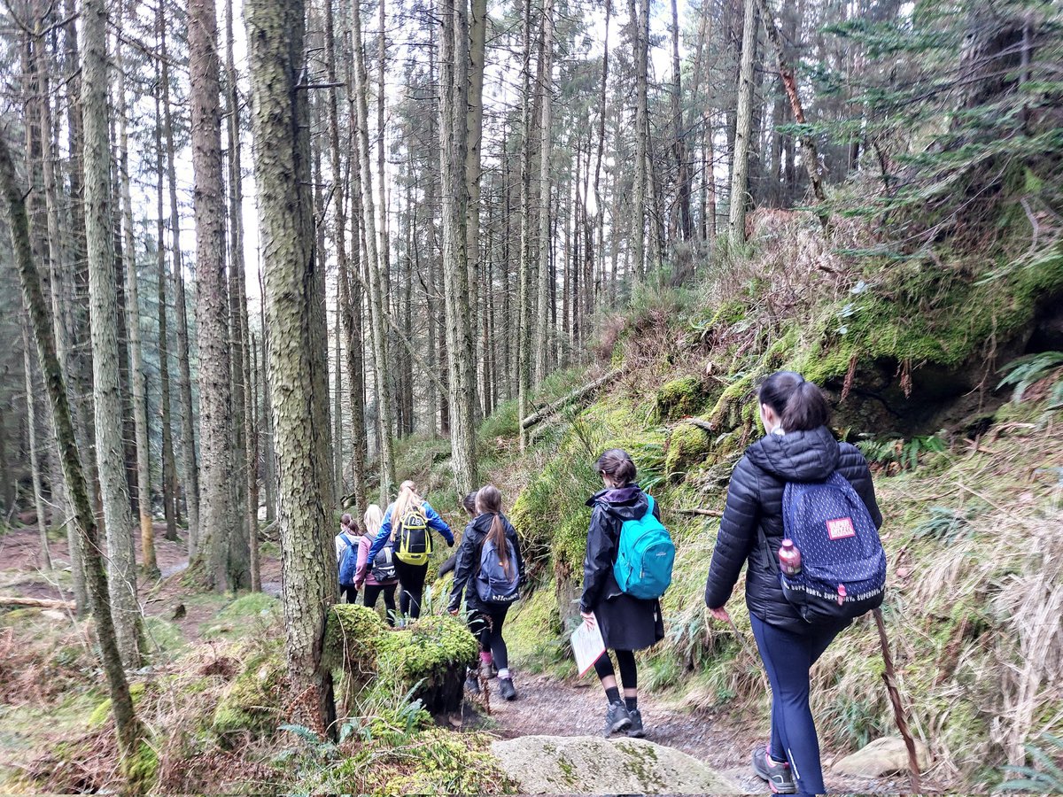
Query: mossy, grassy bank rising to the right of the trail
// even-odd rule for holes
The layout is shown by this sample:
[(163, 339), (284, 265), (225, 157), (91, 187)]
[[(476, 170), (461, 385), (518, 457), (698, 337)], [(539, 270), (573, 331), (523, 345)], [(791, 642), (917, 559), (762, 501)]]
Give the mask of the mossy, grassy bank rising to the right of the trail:
[[(797, 368), (822, 383), (834, 379), (837, 398), (851, 363), (856, 390), (863, 374), (893, 360), (894, 389), (901, 393), (911, 368), (908, 401), (917, 405), (919, 364), (962, 372), (990, 345), (986, 324), (999, 334), (994, 341), (1003, 341), (1029, 324), (1039, 298), (1063, 286), (1063, 258), (1056, 258), (990, 287), (959, 270), (931, 277), (925, 266), (909, 265), (844, 278), (806, 274), (780, 289), (793, 276), (783, 265), (793, 261), (791, 240), (725, 264), (742, 276), (729, 290), (718, 282), (694, 302), (674, 294), (645, 300), (614, 352), (613, 364), (628, 363), (624, 379), (591, 406), (563, 414), (525, 457), (493, 474), (508, 494), (520, 490), (511, 518), (535, 562), (538, 589), (511, 624), (525, 666), (571, 673), (561, 628), (578, 596), (583, 503), (598, 487), (592, 462), (617, 445), (631, 453), (678, 545), (663, 601), (667, 639), (645, 657), (643, 682), (672, 690), (692, 708), (765, 715), (743, 601), (729, 605), (741, 639), (706, 622), (702, 592), (716, 521), (676, 511), (722, 509), (730, 469), (758, 434), (756, 378)], [(850, 286), (872, 279), (877, 288), (851, 293)], [(988, 373), (992, 388), (998, 377)], [(983, 414), (992, 414), (996, 404), (991, 396), (986, 403)], [(874, 419), (866, 410), (839, 419), (853, 437), (883, 433), (861, 425)], [(1023, 762), (1024, 743), (1063, 729), (1063, 413), (1042, 401), (1006, 405), (991, 422), (978, 447), (962, 434), (944, 452), (915, 444), (908, 452), (917, 468), (896, 475), (893, 464), (877, 476), (891, 566), (885, 613), (913, 726), (931, 744), (938, 773), (971, 784), (994, 782), (1003, 763)], [(881, 456), (890, 446), (877, 448)], [(814, 673), (821, 732), (836, 749), (893, 730), (877, 649), (873, 628), (860, 623)]]

